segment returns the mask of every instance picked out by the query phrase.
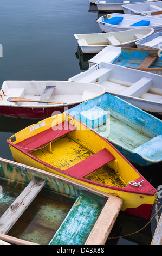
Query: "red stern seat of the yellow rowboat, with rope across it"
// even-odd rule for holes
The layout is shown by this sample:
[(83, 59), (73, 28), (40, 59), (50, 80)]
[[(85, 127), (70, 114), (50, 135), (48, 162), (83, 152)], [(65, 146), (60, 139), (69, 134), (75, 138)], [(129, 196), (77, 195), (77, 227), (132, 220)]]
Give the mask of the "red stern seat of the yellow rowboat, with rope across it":
[(67, 122), (66, 125), (64, 125), (63, 122), (57, 126), (51, 127), (48, 130), (42, 131), (34, 136), (24, 139), (24, 141), (21, 141), (16, 145), (18, 147), (22, 147), (23, 150), (28, 153), (29, 151), (40, 148), (43, 145), (53, 141), (54, 138), (59, 138), (63, 135), (66, 135), (67, 133), (74, 131), (75, 129), (76, 127), (72, 124)]

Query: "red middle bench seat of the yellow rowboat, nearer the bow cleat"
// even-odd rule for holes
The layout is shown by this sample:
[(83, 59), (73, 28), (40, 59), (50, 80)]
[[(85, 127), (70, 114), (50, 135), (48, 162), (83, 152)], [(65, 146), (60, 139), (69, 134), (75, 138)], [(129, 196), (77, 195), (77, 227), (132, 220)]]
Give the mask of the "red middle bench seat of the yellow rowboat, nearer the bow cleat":
[(74, 166), (66, 169), (64, 172), (72, 176), (83, 178), (114, 159), (115, 157), (112, 155), (112, 153), (104, 148), (94, 155), (89, 156), (87, 159), (76, 163)]

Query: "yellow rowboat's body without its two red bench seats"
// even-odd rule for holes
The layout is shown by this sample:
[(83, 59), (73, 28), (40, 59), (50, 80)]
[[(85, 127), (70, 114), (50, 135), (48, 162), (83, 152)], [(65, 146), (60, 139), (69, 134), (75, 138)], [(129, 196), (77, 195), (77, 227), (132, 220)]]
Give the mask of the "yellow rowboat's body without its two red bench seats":
[[(22, 141), (22, 138), (31, 138), (35, 134), (49, 129), (51, 126), (62, 123), (64, 120), (72, 123), (76, 130), (70, 132), (65, 137), (56, 138), (51, 144), (51, 151), (47, 147), (43, 147), (42, 149), (36, 149), (27, 153), (16, 145)], [(32, 126), (29, 126), (16, 133), (7, 141), (12, 155), (17, 162), (79, 181), (81, 184), (86, 184), (102, 192), (114, 194), (124, 202), (122, 211), (132, 208), (134, 215), (150, 218), (151, 209), (157, 197), (157, 190), (141, 176), (112, 144), (67, 114), (47, 118), (44, 121), (46, 123), (45, 126), (32, 131), (30, 129)], [(41, 124), (41, 122), (38, 124)], [(11, 142), (13, 139), (15, 141)], [(75, 175), (68, 175), (66, 169), (103, 148), (109, 150), (114, 155), (115, 160), (95, 170), (85, 178), (79, 178), (77, 173)], [(142, 180), (144, 181), (141, 187), (134, 187), (129, 184), (130, 181), (140, 182)], [(142, 208), (146, 204), (149, 205), (150, 211), (145, 212), (145, 214), (143, 214), (144, 210), (136, 211), (140, 205)]]

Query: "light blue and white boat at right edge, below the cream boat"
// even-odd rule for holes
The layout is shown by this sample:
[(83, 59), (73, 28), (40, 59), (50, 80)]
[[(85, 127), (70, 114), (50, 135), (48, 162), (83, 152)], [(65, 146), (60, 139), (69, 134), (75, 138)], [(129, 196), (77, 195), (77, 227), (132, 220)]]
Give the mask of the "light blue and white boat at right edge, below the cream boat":
[[(148, 50), (159, 50), (162, 48), (162, 32), (154, 33), (152, 36), (148, 36), (145, 40), (139, 40), (135, 42), (137, 48), (147, 48)], [(159, 56), (161, 56), (161, 51), (159, 52)]]

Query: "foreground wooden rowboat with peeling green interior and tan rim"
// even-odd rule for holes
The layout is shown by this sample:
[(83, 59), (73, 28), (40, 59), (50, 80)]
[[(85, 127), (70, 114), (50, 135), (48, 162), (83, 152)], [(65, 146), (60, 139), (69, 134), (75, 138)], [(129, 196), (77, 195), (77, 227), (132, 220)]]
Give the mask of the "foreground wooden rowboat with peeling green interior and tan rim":
[(2, 158), (0, 180), (0, 239), (18, 245), (104, 245), (122, 205), (120, 198)]

